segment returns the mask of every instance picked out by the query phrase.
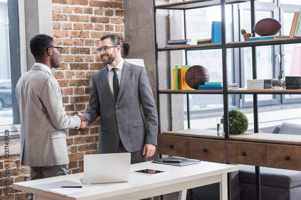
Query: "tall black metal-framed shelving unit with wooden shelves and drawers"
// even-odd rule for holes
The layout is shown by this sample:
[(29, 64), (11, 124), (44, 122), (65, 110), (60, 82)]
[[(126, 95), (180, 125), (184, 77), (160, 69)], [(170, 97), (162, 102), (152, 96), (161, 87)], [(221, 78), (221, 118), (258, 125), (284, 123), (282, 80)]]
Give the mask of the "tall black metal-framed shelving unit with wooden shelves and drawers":
[[(270, 45), (283, 45), (283, 44), (294, 44), (301, 43), (301, 37), (296, 38), (281, 38), (281, 39), (272, 39), (272, 40), (257, 40), (257, 41), (240, 41), (240, 42), (229, 42), (226, 43), (226, 31), (225, 31), (225, 5), (226, 4), (235, 4), (241, 2), (250, 2), (251, 5), (251, 27), (255, 25), (255, 0), (191, 0), (191, 1), (180, 1), (178, 3), (171, 4), (162, 4), (156, 5), (156, 0), (154, 0), (154, 20), (155, 20), (155, 50), (156, 50), (156, 65), (157, 65), (157, 88), (159, 87), (159, 67), (158, 66), (158, 52), (163, 51), (175, 51), (175, 50), (185, 50), (186, 54), (186, 65), (187, 65), (187, 51), (190, 50), (206, 50), (206, 49), (221, 49), (222, 50), (222, 71), (223, 71), (223, 82), (227, 82), (227, 49), (231, 48), (241, 48), (241, 47), (251, 47), (252, 48), (252, 73), (253, 79), (257, 79), (256, 74), (256, 46), (270, 46)], [(181, 46), (171, 46), (171, 47), (160, 47), (158, 48), (157, 44), (157, 9), (169, 9), (169, 10), (183, 10), (184, 11), (184, 29), (185, 29), (185, 39), (187, 39), (186, 33), (186, 19), (185, 19), (185, 11), (188, 9), (196, 9), (201, 7), (209, 7), (209, 6), (221, 6), (222, 13), (222, 43), (215, 44), (201, 44), (201, 45), (181, 45)], [(252, 28), (252, 33), (255, 35), (255, 32)], [(301, 151), (301, 136), (289, 136), (288, 135), (278, 135), (278, 134), (270, 134), (270, 133), (258, 133), (258, 94), (301, 94), (301, 90), (285, 90), (285, 89), (261, 89), (261, 90), (248, 90), (247, 88), (239, 88), (234, 90), (228, 90), (227, 85), (223, 88), (223, 90), (172, 90), (172, 89), (164, 89), (157, 91), (157, 102), (158, 102), (158, 117), (159, 117), (159, 133), (161, 133), (160, 127), (160, 94), (186, 94), (187, 95), (187, 117), (188, 117), (188, 129), (187, 130), (177, 130), (177, 131), (166, 131), (163, 134), (158, 135), (158, 153), (166, 154), (166, 155), (174, 155), (180, 157), (187, 157), (215, 161), (215, 162), (224, 162), (224, 163), (237, 163), (237, 164), (248, 164), (255, 166), (256, 172), (256, 199), (259, 200), (260, 197), (260, 169), (259, 166), (272, 167), (277, 168), (277, 163), (273, 163), (274, 165), (266, 165), (265, 160), (262, 160), (262, 157), (268, 156), (268, 149), (270, 145), (287, 145), (287, 149), (291, 149), (292, 151)], [(224, 103), (224, 130), (225, 136), (217, 136), (216, 131), (213, 130), (202, 130), (202, 129), (190, 129), (190, 112), (189, 112), (189, 94), (222, 94), (223, 95), (223, 103)], [(253, 94), (253, 109), (254, 109), (254, 132), (255, 133), (244, 133), (241, 135), (231, 135), (229, 134), (229, 123), (228, 123), (228, 94)], [(171, 142), (169, 142), (171, 141)], [(195, 141), (199, 142), (198, 145), (194, 145)], [(167, 144), (167, 142), (169, 142)], [(182, 148), (178, 154), (172, 153), (172, 149), (168, 145), (176, 145), (177, 142), (184, 142), (185, 148)], [(260, 160), (252, 161), (252, 160), (233, 160), (235, 155), (229, 155), (228, 158), (225, 155), (224, 158), (220, 159), (214, 156), (214, 154), (203, 153), (199, 151), (202, 148), (203, 143), (209, 143), (213, 148), (213, 152), (221, 151), (220, 146), (224, 145), (225, 148), (228, 144), (232, 144), (235, 142), (235, 145), (242, 145), (245, 142), (250, 143), (253, 147), (259, 145), (260, 148), (264, 148), (266, 153), (262, 153), (262, 155), (257, 155), (260, 157)], [(295, 145), (295, 146), (293, 146)], [(263, 150), (263, 149), (262, 149)], [(173, 151), (175, 152), (175, 151)], [(196, 154), (198, 152), (199, 154)], [(256, 154), (254, 154), (256, 156)], [(231, 160), (232, 159), (232, 160)], [(296, 158), (299, 164), (299, 158)], [(301, 162), (301, 160), (300, 160)], [(262, 164), (265, 163), (265, 164)], [(293, 169), (300, 170), (301, 166), (290, 164), (279, 163), (280, 168), (282, 169)], [(228, 175), (228, 193), (230, 193), (229, 185), (231, 182)]]

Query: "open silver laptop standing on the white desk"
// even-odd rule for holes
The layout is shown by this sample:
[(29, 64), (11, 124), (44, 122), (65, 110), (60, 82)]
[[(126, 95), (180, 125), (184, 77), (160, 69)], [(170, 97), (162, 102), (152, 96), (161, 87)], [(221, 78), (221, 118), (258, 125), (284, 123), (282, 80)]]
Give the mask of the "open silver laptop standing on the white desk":
[(128, 182), (131, 153), (84, 155), (83, 184)]

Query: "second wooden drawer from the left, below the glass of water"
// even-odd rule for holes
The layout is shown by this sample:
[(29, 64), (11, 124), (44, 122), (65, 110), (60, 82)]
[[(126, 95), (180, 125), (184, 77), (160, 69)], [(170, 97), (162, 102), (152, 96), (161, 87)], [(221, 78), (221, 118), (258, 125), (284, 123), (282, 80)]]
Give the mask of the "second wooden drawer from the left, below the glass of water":
[(225, 141), (189, 138), (190, 158), (225, 163)]

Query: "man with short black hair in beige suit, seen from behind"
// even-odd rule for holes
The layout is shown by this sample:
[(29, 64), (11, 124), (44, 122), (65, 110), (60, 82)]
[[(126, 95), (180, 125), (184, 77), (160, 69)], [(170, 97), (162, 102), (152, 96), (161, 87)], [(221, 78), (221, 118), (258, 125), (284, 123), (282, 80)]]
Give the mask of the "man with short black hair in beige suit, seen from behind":
[[(65, 129), (86, 127), (86, 119), (68, 116), (61, 89), (51, 76), (60, 66), (61, 47), (52, 37), (39, 34), (30, 41), (36, 63), (19, 79), (16, 95), (21, 118), (21, 165), (30, 166), (30, 180), (69, 173)], [(33, 199), (33, 195), (29, 195)]]

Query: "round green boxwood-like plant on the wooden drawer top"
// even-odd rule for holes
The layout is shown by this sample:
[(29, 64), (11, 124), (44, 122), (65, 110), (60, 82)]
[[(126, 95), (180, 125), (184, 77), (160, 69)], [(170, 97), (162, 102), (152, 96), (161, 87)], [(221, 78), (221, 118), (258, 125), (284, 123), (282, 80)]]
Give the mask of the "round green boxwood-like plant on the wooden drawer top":
[(243, 112), (236, 109), (229, 110), (229, 133), (230, 134), (245, 133), (248, 130), (248, 126), (249, 126), (249, 120)]

